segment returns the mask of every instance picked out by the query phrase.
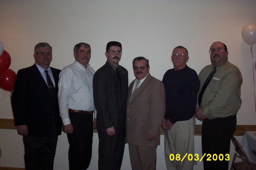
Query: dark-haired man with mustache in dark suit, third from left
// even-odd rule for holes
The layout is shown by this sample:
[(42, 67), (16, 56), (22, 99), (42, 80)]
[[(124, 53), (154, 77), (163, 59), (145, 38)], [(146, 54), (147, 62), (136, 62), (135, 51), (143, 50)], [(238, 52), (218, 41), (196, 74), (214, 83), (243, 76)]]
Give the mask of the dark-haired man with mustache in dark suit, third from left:
[(111, 41), (106, 46), (106, 64), (93, 78), (94, 105), (99, 136), (99, 170), (120, 170), (124, 155), (128, 71), (118, 63), (122, 45)]

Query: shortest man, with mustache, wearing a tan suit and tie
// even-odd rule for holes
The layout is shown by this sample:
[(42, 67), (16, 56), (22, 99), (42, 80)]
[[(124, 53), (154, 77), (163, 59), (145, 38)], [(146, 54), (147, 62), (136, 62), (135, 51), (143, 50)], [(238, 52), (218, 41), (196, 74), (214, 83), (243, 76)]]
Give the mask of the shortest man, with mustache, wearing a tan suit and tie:
[(156, 147), (165, 113), (164, 84), (149, 73), (149, 61), (132, 61), (135, 80), (129, 86), (126, 110), (126, 143), (133, 170), (156, 169)]

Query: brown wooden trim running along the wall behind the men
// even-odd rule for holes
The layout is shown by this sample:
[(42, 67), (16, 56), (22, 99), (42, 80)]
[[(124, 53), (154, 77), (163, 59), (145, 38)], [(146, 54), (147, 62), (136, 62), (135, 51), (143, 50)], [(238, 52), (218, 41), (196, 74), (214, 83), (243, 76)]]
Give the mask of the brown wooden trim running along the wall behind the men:
[[(17, 127), (14, 126), (13, 119), (0, 118), (0, 129), (17, 129)], [(256, 125), (236, 125), (234, 136), (243, 136), (246, 131), (256, 131)], [(95, 129), (93, 132), (98, 133)], [(162, 128), (160, 128), (160, 132), (161, 135), (164, 135), (164, 130)], [(202, 135), (202, 125), (196, 125), (195, 135)]]

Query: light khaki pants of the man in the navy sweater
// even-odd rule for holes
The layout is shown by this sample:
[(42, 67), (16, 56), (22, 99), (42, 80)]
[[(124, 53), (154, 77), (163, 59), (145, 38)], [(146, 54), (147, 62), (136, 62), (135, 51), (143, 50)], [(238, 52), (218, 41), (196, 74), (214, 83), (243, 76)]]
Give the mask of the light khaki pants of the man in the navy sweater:
[[(176, 161), (176, 154), (180, 154), (181, 159), (186, 153), (194, 156), (195, 123), (193, 116), (186, 121), (177, 121), (170, 130), (164, 131), (165, 161), (168, 170), (193, 170), (194, 161), (188, 160), (188, 157), (182, 162)], [(175, 157), (172, 161), (170, 154), (174, 154)]]

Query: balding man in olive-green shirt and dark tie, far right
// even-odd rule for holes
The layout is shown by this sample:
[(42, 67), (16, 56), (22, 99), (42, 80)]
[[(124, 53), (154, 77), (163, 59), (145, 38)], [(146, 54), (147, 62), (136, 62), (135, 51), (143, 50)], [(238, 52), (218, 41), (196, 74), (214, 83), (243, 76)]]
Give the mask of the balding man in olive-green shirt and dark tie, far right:
[[(228, 62), (228, 49), (222, 42), (210, 47), (211, 63), (199, 73), (200, 91), (196, 118), (202, 122), (202, 154), (229, 157), (230, 139), (236, 131), (236, 114), (241, 106), (242, 74)], [(227, 170), (228, 161), (207, 161), (205, 170)]]

